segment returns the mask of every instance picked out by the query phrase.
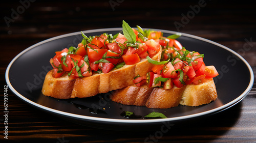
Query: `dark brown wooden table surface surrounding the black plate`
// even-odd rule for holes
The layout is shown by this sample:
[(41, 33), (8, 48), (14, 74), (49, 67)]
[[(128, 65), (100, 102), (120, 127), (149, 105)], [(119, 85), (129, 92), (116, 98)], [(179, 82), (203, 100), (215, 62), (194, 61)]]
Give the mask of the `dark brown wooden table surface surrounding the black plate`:
[[(256, 142), (256, 11), (252, 3), (27, 0), (1, 2), (0, 7), (0, 142)], [(198, 9), (193, 11), (191, 7)], [(184, 21), (183, 14), (190, 14), (188, 21)], [(252, 90), (241, 102), (216, 115), (177, 123), (159, 134), (158, 130), (111, 131), (80, 126), (29, 106), (8, 89), (5, 139), (5, 71), (11, 60), (42, 40), (83, 30), (121, 27), (123, 19), (130, 25), (179, 31), (229, 47), (252, 67)], [(175, 22), (183, 25), (177, 28)]]

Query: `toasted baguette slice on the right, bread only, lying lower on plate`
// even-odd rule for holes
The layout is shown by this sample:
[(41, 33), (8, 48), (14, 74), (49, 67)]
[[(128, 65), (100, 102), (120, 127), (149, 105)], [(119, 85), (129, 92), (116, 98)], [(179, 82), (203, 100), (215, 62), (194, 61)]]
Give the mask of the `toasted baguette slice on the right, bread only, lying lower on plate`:
[(146, 85), (141, 87), (130, 85), (115, 91), (111, 95), (111, 99), (114, 102), (124, 105), (146, 106), (148, 108), (171, 108), (179, 104), (199, 106), (215, 101), (216, 98), (217, 92), (212, 78), (205, 79), (197, 85), (189, 84), (181, 88), (174, 86), (170, 90), (147, 88)]

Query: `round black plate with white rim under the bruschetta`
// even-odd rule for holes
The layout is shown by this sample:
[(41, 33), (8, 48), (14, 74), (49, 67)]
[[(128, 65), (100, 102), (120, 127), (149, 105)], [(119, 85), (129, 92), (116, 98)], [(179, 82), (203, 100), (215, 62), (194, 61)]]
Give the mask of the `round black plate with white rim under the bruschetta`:
[[(102, 33), (116, 34), (122, 28), (106, 28), (84, 31), (87, 36)], [(163, 36), (176, 32), (157, 30)], [(105, 129), (159, 126), (211, 115), (222, 111), (241, 101), (251, 90), (253, 72), (249, 64), (238, 53), (218, 43), (197, 36), (182, 34), (178, 40), (189, 51), (204, 53), (206, 65), (214, 65), (219, 72), (215, 77), (218, 93), (216, 101), (199, 107), (179, 105), (169, 109), (149, 109), (140, 106), (122, 105), (109, 100), (107, 94), (99, 94), (90, 98), (74, 98), (60, 100), (46, 97), (41, 93), (42, 83), (46, 73), (51, 70), (50, 58), (55, 51), (70, 46), (76, 46), (82, 39), (81, 33), (71, 33), (57, 36), (37, 43), (19, 53), (6, 70), (6, 81), (10, 90), (21, 100), (41, 110), (53, 113), (63, 119), (78, 124)], [(239, 78), (234, 78), (239, 75)], [(75, 103), (75, 104), (71, 104)], [(88, 108), (87, 108), (88, 107)], [(126, 119), (120, 116), (122, 111), (132, 111), (141, 116), (138, 119)], [(162, 112), (167, 119), (145, 119), (150, 112)], [(111, 127), (111, 128), (110, 128)], [(144, 128), (145, 129), (145, 128)]]

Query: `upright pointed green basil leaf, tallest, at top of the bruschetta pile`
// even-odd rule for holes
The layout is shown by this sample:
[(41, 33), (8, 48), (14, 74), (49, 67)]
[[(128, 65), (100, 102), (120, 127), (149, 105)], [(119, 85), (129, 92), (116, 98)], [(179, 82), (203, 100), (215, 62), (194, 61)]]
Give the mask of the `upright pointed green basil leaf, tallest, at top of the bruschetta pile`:
[(123, 24), (122, 24), (122, 27), (123, 27), (123, 35), (124, 37), (131, 43), (135, 44), (136, 42), (136, 35), (135, 33), (133, 32), (133, 29), (129, 26), (128, 23), (126, 23), (124, 20), (123, 20)]

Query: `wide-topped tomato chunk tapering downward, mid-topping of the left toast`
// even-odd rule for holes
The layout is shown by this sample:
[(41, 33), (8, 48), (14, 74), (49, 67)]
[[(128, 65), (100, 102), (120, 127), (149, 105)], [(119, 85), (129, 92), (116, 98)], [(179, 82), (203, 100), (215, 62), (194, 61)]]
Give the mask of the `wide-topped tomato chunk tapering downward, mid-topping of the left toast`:
[(87, 49), (88, 58), (90, 61), (95, 62), (102, 58), (103, 54), (107, 51), (107, 49)]

